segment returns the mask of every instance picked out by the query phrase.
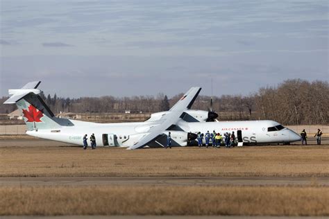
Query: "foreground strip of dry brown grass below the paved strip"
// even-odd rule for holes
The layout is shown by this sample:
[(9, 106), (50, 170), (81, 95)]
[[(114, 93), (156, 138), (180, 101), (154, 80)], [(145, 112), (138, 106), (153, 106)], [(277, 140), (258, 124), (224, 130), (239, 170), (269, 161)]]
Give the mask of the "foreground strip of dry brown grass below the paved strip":
[(2, 187), (0, 215), (328, 216), (328, 187)]

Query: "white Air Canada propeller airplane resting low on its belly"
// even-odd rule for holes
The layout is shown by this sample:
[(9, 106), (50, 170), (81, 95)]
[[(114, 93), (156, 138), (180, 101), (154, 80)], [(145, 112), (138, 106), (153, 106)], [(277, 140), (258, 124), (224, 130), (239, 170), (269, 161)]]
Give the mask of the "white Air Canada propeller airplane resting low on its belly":
[(83, 146), (83, 136), (94, 133), (97, 146), (159, 148), (167, 144), (171, 132), (171, 146), (188, 146), (196, 133), (208, 130), (237, 133), (242, 144), (290, 143), (301, 137), (276, 121), (215, 121), (218, 114), (210, 110), (191, 109), (201, 87), (192, 87), (166, 112), (151, 114), (138, 123), (92, 123), (56, 117), (44, 103), (37, 87), (41, 81), (28, 82), (21, 89), (9, 89), (11, 95), (4, 104), (16, 104), (26, 123), (26, 134)]

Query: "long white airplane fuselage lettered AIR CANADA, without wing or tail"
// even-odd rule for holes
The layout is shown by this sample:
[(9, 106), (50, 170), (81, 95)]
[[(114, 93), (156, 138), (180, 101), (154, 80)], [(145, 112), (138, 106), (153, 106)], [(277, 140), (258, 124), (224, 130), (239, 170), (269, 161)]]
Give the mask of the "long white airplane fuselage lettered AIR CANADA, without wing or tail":
[[(83, 136), (87, 134), (89, 138), (92, 133), (96, 137), (97, 146), (119, 146), (129, 147), (135, 144), (139, 139), (144, 137), (150, 127), (154, 125), (153, 121), (146, 121), (141, 123), (89, 123), (83, 121), (71, 120), (73, 126), (62, 127), (57, 130), (33, 130), (27, 131), (26, 134), (42, 139), (51, 139), (54, 141), (62, 141), (65, 143), (72, 143), (83, 146)], [(244, 143), (264, 144), (264, 143), (289, 143), (292, 141), (299, 141), (298, 134), (282, 128), (281, 130), (271, 130), (276, 125), (280, 125), (275, 121), (220, 121), (220, 122), (196, 122), (187, 123), (183, 120), (177, 124), (183, 133), (205, 133), (214, 130), (219, 132), (222, 136), (225, 132), (235, 132), (235, 136), (241, 135)], [(239, 131), (239, 133), (238, 133)], [(168, 134), (169, 131), (164, 132)], [(175, 131), (171, 131), (175, 132)], [(171, 134), (171, 138), (178, 143), (178, 146), (187, 146), (187, 137), (181, 132), (178, 134)], [(90, 141), (88, 141), (90, 145)]]

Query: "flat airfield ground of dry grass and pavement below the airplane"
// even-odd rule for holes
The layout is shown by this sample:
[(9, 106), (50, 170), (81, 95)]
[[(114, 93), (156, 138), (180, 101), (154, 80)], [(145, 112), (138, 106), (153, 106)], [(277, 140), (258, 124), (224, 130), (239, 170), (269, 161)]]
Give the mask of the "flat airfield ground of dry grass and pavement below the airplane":
[(321, 146), (83, 150), (1, 139), (0, 215), (329, 216), (323, 140)]

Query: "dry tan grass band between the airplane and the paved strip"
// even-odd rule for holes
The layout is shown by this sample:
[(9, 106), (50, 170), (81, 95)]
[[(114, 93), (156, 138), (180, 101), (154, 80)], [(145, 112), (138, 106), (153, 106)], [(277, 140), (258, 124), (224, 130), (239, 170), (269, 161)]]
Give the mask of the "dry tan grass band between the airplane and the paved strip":
[(0, 177), (328, 176), (328, 146), (125, 150), (1, 147)]

